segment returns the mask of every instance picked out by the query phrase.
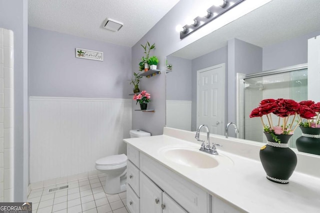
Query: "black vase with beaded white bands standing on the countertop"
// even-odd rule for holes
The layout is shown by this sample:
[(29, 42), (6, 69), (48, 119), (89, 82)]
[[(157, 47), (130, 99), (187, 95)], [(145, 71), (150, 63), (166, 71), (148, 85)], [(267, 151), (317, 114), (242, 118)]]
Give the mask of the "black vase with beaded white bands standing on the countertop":
[(260, 149), (260, 161), (269, 181), (278, 184), (289, 183), (296, 166), (296, 155), (288, 148), (292, 135), (276, 135), (280, 143), (275, 142), (269, 133), (264, 133), (267, 144)]

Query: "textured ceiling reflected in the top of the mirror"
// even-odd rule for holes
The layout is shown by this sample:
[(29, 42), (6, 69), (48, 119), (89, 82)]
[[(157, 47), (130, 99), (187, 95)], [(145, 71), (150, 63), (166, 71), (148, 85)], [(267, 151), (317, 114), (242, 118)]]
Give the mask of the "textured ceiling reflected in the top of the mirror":
[(227, 41), (232, 38), (266, 47), (320, 30), (319, 2), (320, 0), (272, 0), (172, 55), (194, 59), (226, 46)]

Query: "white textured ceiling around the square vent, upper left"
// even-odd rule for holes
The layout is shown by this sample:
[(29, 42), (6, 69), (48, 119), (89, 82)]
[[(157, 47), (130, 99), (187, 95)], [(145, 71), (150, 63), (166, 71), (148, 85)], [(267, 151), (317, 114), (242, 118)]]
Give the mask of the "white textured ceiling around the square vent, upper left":
[[(28, 25), (132, 47), (178, 0), (28, 0)], [(104, 29), (106, 18), (123, 23)]]

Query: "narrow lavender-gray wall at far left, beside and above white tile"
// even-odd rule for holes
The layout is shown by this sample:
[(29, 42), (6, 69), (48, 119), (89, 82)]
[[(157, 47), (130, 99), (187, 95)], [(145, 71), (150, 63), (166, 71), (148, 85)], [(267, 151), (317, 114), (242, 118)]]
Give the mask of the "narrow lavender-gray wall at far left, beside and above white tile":
[(14, 33), (14, 201), (28, 184), (27, 0), (0, 0), (0, 27)]

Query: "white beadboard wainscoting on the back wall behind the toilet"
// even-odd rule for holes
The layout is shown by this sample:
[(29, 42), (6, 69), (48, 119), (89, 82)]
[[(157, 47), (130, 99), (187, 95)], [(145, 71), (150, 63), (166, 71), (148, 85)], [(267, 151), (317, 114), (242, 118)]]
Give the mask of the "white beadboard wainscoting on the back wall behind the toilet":
[(94, 171), (126, 153), (131, 99), (30, 97), (30, 183)]

